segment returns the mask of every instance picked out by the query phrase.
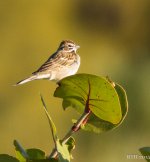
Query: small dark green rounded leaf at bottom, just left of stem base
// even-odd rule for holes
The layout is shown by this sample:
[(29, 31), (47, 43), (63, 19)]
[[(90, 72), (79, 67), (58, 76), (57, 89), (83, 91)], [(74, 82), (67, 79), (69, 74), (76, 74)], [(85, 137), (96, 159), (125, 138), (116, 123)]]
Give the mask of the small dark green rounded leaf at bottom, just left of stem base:
[(32, 149), (27, 149), (26, 150), (28, 156), (29, 156), (29, 159), (45, 159), (45, 152), (40, 150), (40, 149), (36, 149), (36, 148), (32, 148)]

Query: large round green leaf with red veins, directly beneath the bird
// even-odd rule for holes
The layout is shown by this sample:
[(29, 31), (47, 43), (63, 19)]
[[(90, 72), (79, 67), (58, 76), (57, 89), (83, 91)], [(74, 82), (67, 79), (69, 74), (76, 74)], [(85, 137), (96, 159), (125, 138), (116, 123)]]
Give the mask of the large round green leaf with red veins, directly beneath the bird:
[(90, 109), (99, 119), (118, 124), (122, 118), (121, 105), (116, 90), (102, 77), (76, 74), (59, 82), (54, 93), (63, 98), (64, 109), (74, 107), (78, 112)]

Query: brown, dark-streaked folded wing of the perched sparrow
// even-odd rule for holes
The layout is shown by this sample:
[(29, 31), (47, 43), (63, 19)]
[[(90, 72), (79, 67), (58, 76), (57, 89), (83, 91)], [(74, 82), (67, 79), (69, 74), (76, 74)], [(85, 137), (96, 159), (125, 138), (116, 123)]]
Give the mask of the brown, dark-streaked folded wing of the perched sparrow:
[(59, 70), (63, 67), (71, 66), (75, 61), (75, 53), (54, 53), (37, 71), (33, 72), (33, 74)]

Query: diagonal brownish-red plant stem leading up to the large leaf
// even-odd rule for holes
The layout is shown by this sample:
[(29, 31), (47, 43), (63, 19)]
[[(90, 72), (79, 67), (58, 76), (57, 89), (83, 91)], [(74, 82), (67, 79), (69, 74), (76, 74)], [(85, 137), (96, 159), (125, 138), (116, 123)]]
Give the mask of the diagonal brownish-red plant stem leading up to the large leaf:
[[(65, 144), (69, 140), (69, 138), (80, 129), (82, 124), (86, 124), (90, 113), (91, 113), (91, 111), (89, 110), (89, 111), (85, 111), (81, 115), (81, 117), (77, 120), (77, 122), (71, 127), (71, 129), (68, 131), (68, 133), (61, 140), (62, 144)], [(53, 149), (53, 151), (50, 154), (49, 158), (56, 158), (57, 155), (58, 155), (58, 152), (57, 152), (57, 150), (55, 148), (55, 149)]]

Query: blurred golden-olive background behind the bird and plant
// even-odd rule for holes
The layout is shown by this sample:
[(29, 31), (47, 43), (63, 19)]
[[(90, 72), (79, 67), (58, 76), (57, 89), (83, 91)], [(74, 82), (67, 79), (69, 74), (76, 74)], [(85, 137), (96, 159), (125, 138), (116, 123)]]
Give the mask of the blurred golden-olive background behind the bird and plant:
[[(150, 146), (149, 0), (0, 0), (0, 153), (14, 155), (12, 142), (51, 152), (53, 142), (39, 92), (63, 137), (76, 112), (62, 110), (56, 84), (29, 76), (63, 39), (81, 46), (80, 73), (109, 75), (126, 89), (129, 113), (117, 129), (75, 135), (74, 162), (127, 162), (127, 154)], [(130, 160), (130, 161), (133, 161)], [(134, 160), (135, 162), (143, 160)]]

